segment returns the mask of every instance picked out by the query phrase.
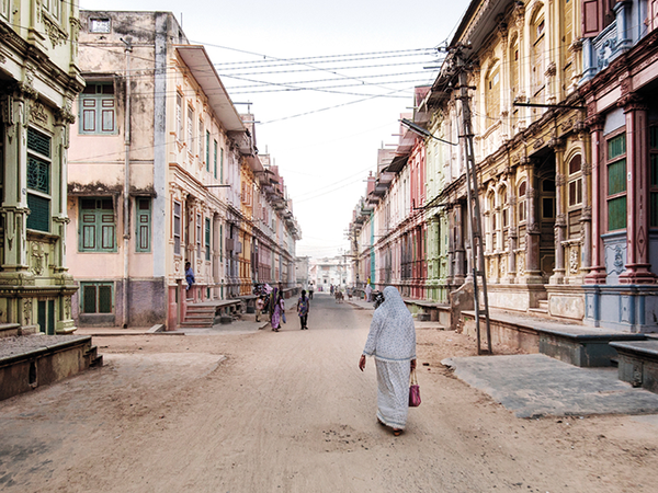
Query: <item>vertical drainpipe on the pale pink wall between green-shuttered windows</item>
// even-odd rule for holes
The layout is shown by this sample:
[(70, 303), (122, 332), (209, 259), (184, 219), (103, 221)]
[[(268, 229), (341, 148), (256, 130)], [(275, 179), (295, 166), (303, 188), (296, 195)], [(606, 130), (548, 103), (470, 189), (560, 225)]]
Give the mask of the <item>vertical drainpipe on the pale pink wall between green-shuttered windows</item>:
[(128, 328), (128, 276), (129, 276), (129, 256), (131, 256), (131, 213), (129, 193), (131, 193), (131, 53), (133, 45), (129, 41), (121, 41), (126, 45), (126, 104), (124, 112), (124, 205), (123, 205), (123, 222), (124, 222), (124, 275), (123, 275), (123, 328)]

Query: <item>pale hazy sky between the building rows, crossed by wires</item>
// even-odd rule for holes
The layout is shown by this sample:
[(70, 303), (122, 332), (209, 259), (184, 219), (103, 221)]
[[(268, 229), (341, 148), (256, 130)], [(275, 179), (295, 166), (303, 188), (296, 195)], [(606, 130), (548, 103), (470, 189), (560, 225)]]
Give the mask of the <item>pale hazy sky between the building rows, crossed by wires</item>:
[[(250, 102), (302, 228), (297, 255), (348, 250), (377, 149), (395, 145), (415, 85), (433, 81), (466, 0), (81, 0), (83, 10), (171, 11), (204, 44), (234, 103)], [(294, 65), (291, 59), (296, 60)], [(283, 72), (283, 73), (282, 73)], [(240, 113), (247, 106), (236, 104)]]

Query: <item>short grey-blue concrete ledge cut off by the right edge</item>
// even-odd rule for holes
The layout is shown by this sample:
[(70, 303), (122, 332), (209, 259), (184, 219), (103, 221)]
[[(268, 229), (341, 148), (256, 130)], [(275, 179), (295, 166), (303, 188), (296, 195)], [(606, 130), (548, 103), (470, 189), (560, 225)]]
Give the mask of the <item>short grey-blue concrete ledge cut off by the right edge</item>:
[(619, 378), (658, 392), (658, 341), (610, 343), (619, 353)]

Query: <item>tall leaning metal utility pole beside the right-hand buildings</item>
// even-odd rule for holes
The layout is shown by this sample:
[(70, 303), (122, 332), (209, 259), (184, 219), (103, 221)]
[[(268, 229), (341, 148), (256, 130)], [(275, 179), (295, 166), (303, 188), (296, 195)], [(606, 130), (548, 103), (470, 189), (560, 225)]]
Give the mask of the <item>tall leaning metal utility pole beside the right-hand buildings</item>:
[[(487, 277), (485, 273), (485, 245), (483, 244), (483, 220), (479, 208), (478, 180), (475, 167), (475, 152), (473, 148), (473, 127), (470, 124), (470, 96), (468, 95), (467, 62), (464, 59), (465, 46), (458, 44), (453, 48), (452, 64), (457, 74), (458, 96), (462, 102), (462, 135), (464, 152), (466, 156), (466, 194), (468, 199), (468, 216), (470, 218), (470, 266), (473, 268), (473, 296), (475, 299), (475, 329), (477, 333), (477, 354), (492, 354), (491, 328), (489, 324), (489, 299), (487, 296)], [(478, 276), (481, 276), (484, 314), (487, 324), (487, 349), (481, 347), (480, 336), (480, 307)]]

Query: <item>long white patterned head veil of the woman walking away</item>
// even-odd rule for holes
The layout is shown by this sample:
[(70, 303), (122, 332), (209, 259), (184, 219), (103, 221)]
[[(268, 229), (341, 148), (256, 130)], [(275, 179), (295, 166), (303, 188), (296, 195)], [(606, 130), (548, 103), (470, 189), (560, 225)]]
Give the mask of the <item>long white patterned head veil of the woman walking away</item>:
[(384, 302), (373, 314), (363, 354), (387, 360), (416, 358), (413, 319), (393, 286), (384, 289)]

